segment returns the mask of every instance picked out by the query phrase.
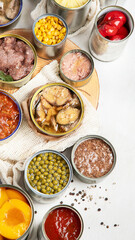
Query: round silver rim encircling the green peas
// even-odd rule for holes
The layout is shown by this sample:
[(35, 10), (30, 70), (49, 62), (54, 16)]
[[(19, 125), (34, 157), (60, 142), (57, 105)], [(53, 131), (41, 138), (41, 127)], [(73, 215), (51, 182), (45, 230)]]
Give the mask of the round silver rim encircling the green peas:
[[(30, 183), (29, 183), (29, 181), (28, 181), (28, 178), (27, 178), (27, 169), (28, 169), (28, 165), (29, 165), (29, 163), (31, 162), (31, 160), (32, 160), (34, 157), (36, 157), (37, 155), (39, 155), (39, 154), (41, 154), (41, 153), (46, 153), (46, 152), (55, 153), (55, 154), (61, 156), (61, 157), (65, 160), (65, 162), (68, 164), (69, 172), (70, 172), (70, 176), (69, 176), (69, 180), (68, 180), (67, 185), (66, 185), (60, 192), (55, 193), (55, 194), (52, 194), (52, 195), (48, 195), (48, 194), (44, 194), (44, 193), (40, 193), (40, 192), (36, 191), (34, 188), (32, 188), (32, 186), (30, 185)], [(67, 187), (69, 186), (72, 178), (73, 178), (73, 170), (72, 170), (72, 165), (71, 165), (70, 161), (68, 160), (68, 158), (67, 158), (65, 155), (63, 155), (62, 153), (57, 152), (57, 151), (55, 151), (55, 150), (42, 150), (42, 151), (39, 151), (39, 152), (35, 153), (32, 157), (30, 157), (30, 158), (28, 159), (28, 161), (27, 161), (27, 163), (26, 163), (26, 166), (25, 166), (25, 170), (24, 170), (24, 179), (25, 179), (25, 182), (26, 182), (27, 186), (30, 188), (30, 190), (31, 190), (34, 194), (36, 194), (38, 197), (42, 197), (42, 198), (44, 198), (44, 199), (53, 199), (53, 198), (55, 198), (55, 197), (58, 197), (61, 193), (63, 193), (63, 192), (67, 189)]]

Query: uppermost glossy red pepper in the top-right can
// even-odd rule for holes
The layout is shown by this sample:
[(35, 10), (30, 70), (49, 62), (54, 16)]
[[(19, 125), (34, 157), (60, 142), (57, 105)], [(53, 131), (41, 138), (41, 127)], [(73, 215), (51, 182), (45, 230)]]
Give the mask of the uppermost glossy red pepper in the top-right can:
[(124, 13), (120, 11), (111, 11), (105, 15), (104, 22), (111, 21), (114, 19), (120, 19), (123, 22), (123, 25), (126, 23), (126, 20), (127, 20)]

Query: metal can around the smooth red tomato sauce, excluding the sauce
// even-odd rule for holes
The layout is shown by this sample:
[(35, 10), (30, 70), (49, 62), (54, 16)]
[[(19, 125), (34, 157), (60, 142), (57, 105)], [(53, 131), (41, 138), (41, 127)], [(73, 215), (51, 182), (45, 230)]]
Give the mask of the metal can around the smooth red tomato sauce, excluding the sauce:
[(45, 223), (49, 213), (51, 213), (53, 210), (58, 209), (58, 208), (68, 208), (77, 214), (77, 216), (80, 219), (80, 223), (81, 223), (81, 230), (80, 230), (80, 234), (79, 234), (77, 240), (81, 239), (81, 236), (82, 236), (83, 230), (84, 230), (84, 222), (83, 222), (83, 219), (82, 219), (82, 216), (80, 215), (80, 213), (75, 208), (73, 208), (69, 205), (57, 205), (55, 207), (52, 207), (43, 217), (43, 220), (38, 227), (38, 233), (37, 233), (38, 240), (49, 240), (49, 238), (47, 237), (46, 232), (45, 232), (44, 223)]

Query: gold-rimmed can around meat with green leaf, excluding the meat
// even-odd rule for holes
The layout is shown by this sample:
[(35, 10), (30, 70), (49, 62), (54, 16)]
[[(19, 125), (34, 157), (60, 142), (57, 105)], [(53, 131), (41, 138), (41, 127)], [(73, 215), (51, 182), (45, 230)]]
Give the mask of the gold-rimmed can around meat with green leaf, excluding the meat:
[(12, 81), (12, 82), (5, 82), (5, 81), (0, 80), (0, 87), (6, 88), (7, 90), (10, 90), (10, 89), (22, 87), (23, 85), (25, 85), (31, 79), (32, 74), (33, 74), (33, 72), (36, 68), (36, 65), (37, 65), (37, 53), (36, 53), (36, 50), (35, 50), (34, 46), (26, 38), (24, 38), (20, 35), (11, 34), (11, 33), (0, 35), (0, 39), (4, 38), (4, 37), (14, 37), (14, 38), (17, 38), (19, 40), (22, 40), (24, 43), (26, 43), (32, 49), (33, 54), (34, 54), (33, 69), (26, 77), (24, 77), (20, 80), (17, 80), (17, 81)]

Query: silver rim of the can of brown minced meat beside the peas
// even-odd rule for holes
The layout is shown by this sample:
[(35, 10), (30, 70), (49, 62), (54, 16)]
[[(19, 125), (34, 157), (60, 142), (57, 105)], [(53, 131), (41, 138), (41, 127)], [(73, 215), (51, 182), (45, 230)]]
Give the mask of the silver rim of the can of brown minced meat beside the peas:
[[(106, 173), (105, 175), (103, 175), (102, 177), (99, 177), (99, 178), (89, 178), (89, 177), (86, 177), (84, 176), (83, 174), (81, 174), (78, 169), (76, 168), (76, 165), (74, 164), (74, 154), (75, 154), (75, 151), (77, 149), (77, 147), (80, 145), (80, 143), (86, 141), (86, 140), (89, 140), (89, 139), (100, 139), (102, 140), (103, 142), (105, 142), (112, 150), (112, 153), (113, 153), (113, 166), (112, 168), (110, 169), (110, 171), (108, 173)], [(76, 143), (75, 145), (73, 146), (72, 148), (72, 152), (71, 152), (71, 163), (72, 163), (72, 166), (73, 166), (73, 169), (78, 173), (78, 175), (80, 175), (82, 178), (84, 178), (84, 180), (91, 180), (91, 181), (94, 181), (94, 180), (101, 180), (101, 179), (104, 179), (105, 177), (107, 177), (114, 169), (115, 165), (116, 165), (116, 151), (113, 147), (113, 145), (104, 137), (101, 137), (99, 135), (87, 135), (85, 137), (82, 137), (80, 138)]]

